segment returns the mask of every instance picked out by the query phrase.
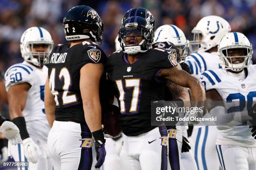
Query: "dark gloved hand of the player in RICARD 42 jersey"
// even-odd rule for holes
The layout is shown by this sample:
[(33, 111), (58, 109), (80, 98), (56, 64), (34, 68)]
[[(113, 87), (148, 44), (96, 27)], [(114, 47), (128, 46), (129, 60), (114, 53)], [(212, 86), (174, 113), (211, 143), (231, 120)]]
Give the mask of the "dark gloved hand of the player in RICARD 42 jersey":
[(100, 168), (101, 165), (104, 163), (105, 156), (106, 156), (106, 150), (105, 150), (105, 142), (106, 140), (95, 140), (95, 150), (97, 153), (97, 163), (95, 165), (95, 168)]

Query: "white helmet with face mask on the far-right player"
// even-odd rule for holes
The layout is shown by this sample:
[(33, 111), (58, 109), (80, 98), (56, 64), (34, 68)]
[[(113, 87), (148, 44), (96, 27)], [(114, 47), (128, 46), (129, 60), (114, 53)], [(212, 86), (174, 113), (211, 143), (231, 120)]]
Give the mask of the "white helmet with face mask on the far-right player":
[[(228, 50), (233, 48), (243, 48), (247, 51), (245, 56), (228, 56)], [(252, 45), (245, 35), (240, 32), (230, 32), (226, 34), (218, 45), (218, 55), (220, 57), (220, 65), (223, 69), (240, 71), (244, 67), (250, 65), (251, 56), (253, 54)], [(233, 63), (232, 58), (244, 58), (241, 63)], [(228, 60), (230, 59), (230, 61)]]

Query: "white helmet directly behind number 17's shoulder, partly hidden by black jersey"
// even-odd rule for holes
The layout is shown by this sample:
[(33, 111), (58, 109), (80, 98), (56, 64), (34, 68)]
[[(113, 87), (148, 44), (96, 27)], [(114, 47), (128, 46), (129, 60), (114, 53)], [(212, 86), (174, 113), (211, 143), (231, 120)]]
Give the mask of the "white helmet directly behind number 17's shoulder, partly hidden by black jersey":
[(166, 41), (172, 42), (176, 47), (182, 49), (180, 62), (184, 62), (187, 57), (189, 47), (189, 41), (186, 39), (184, 32), (176, 25), (162, 25), (156, 29), (153, 42), (155, 43)]

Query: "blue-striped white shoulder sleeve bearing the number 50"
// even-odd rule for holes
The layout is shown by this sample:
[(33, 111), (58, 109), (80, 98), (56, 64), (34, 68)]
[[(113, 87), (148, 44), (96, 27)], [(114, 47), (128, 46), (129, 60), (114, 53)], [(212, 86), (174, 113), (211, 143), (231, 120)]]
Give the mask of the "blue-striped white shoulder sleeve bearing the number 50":
[(33, 68), (19, 63), (12, 65), (8, 70), (5, 72), (5, 88), (8, 91), (9, 87), (15, 84), (20, 84), (23, 82), (28, 82), (29, 84), (33, 85), (32, 80), (32, 72)]

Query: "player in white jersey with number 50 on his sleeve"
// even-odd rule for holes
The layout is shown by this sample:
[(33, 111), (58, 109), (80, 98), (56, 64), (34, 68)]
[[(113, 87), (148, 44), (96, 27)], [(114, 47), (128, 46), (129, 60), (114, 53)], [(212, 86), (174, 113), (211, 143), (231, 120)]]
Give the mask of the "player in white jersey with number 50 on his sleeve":
[(49, 125), (44, 110), (44, 83), (49, 53), (53, 48), (50, 33), (41, 27), (28, 28), (20, 38), (20, 51), (25, 61), (5, 72), (9, 112), (18, 126), (22, 143), (8, 149), (15, 161), (29, 161), (29, 169), (51, 169), (47, 151)]

